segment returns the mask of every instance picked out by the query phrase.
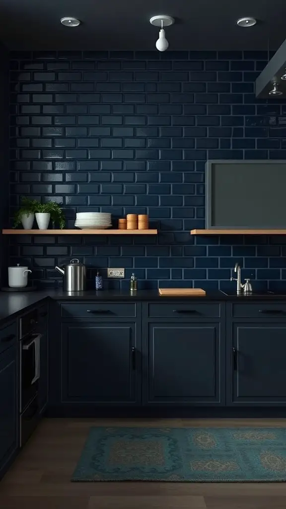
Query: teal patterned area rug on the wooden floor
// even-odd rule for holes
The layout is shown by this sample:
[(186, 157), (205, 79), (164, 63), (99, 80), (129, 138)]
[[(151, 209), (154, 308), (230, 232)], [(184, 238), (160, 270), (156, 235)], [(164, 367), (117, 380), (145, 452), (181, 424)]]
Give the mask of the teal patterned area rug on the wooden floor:
[(284, 428), (91, 428), (72, 481), (286, 480)]

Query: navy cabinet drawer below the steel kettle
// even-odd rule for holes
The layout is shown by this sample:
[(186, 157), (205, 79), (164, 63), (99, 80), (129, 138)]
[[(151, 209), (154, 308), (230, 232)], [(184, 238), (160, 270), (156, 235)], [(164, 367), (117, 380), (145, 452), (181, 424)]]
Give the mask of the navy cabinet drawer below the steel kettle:
[(62, 304), (61, 315), (63, 318), (135, 318), (135, 303), (118, 302), (84, 302), (80, 304)]

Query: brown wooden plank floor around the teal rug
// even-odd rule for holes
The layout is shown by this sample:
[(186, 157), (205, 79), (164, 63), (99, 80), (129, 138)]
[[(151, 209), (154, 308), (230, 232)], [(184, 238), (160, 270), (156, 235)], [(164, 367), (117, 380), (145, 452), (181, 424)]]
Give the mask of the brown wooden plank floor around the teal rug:
[(286, 419), (44, 419), (0, 483), (0, 508), (286, 509), (286, 483), (71, 483), (90, 426), (283, 427)]

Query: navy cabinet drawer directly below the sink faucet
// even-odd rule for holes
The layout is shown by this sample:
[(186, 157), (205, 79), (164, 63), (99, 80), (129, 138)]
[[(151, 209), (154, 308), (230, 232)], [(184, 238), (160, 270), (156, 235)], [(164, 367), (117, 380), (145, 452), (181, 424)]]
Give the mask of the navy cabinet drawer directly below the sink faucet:
[(233, 318), (284, 318), (286, 319), (286, 302), (264, 302), (233, 304)]

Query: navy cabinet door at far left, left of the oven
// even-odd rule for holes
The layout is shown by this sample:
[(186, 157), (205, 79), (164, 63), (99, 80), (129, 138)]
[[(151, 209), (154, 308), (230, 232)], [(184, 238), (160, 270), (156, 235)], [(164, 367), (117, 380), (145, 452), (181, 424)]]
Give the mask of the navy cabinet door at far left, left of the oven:
[(16, 348), (0, 356), (0, 476), (17, 449), (17, 355)]

